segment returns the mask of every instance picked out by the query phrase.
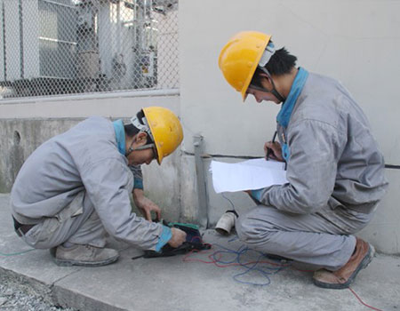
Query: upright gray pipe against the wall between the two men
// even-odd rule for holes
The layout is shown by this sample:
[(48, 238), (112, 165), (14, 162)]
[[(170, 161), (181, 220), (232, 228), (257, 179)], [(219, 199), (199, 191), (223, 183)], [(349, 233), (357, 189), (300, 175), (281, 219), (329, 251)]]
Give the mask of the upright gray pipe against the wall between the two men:
[(208, 195), (205, 182), (203, 155), (203, 136), (194, 136), (196, 179), (197, 179), (197, 197), (198, 197), (198, 221), (200, 226), (208, 227)]

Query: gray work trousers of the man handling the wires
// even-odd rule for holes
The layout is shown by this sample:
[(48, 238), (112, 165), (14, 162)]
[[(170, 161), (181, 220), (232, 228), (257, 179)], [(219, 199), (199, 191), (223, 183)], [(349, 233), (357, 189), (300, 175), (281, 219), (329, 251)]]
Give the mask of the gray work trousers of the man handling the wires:
[(37, 249), (49, 249), (65, 242), (104, 247), (106, 230), (82, 191), (57, 215), (44, 218), (22, 238)]

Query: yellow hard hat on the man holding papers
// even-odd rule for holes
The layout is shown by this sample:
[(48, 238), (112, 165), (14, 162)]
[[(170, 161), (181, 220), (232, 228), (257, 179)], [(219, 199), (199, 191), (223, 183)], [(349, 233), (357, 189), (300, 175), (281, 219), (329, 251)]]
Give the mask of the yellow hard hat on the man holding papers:
[(220, 52), (220, 70), (228, 84), (242, 93), (243, 101), (247, 97), (247, 88), (270, 39), (270, 35), (257, 31), (239, 32)]

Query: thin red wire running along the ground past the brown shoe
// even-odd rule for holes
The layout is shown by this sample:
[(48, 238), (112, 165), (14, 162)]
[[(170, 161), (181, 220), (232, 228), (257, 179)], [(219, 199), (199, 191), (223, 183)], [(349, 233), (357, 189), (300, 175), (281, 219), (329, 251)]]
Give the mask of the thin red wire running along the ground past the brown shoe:
[[(212, 246), (212, 245), (211, 245), (211, 246)], [(219, 253), (220, 257), (219, 257), (218, 259), (213, 259), (213, 256), (212, 256), (212, 255), (214, 254), (215, 251), (212, 251), (212, 253), (211, 253), (210, 255), (207, 256), (207, 257), (210, 259), (210, 261), (205, 261), (205, 260), (203, 260), (203, 259), (197, 259), (197, 258), (189, 258), (194, 252), (204, 254), (204, 253), (206, 253), (206, 252), (208, 252), (208, 251), (212, 251), (212, 250), (210, 249), (210, 250), (206, 250), (206, 251), (196, 251), (196, 250), (189, 251), (188, 254), (186, 254), (186, 255), (183, 257), (182, 261), (184, 261), (184, 262), (202, 262), (202, 263), (204, 263), (204, 264), (213, 264), (213, 265), (216, 266), (216, 267), (234, 267), (234, 266), (241, 266), (241, 264), (236, 263), (236, 262), (235, 262), (235, 263), (226, 264), (226, 265), (220, 265), (220, 264), (218, 263), (218, 260), (220, 260), (222, 254)], [(271, 266), (277, 266), (277, 267), (290, 267), (290, 268), (292, 268), (293, 270), (300, 271), (300, 272), (314, 272), (313, 270), (300, 270), (300, 269), (298, 269), (298, 268), (291, 267), (291, 266), (289, 266), (289, 265), (286, 265), (286, 266), (285, 266), (285, 265), (277, 264), (277, 263), (275, 263), (275, 262), (271, 262), (271, 261), (268, 261), (268, 260), (249, 261), (249, 262), (246, 262), (246, 263), (244, 263), (244, 264), (242, 264), (242, 265), (251, 265), (251, 264), (254, 264), (254, 263), (256, 263), (256, 262), (258, 262), (258, 263), (265, 263), (265, 264), (269, 264), (269, 265), (271, 265)], [(369, 308), (371, 308), (372, 310), (375, 310), (375, 311), (383, 311), (383, 310), (381, 310), (381, 309), (379, 309), (379, 308), (372, 307), (372, 306), (369, 306), (369, 305), (367, 305), (366, 303), (364, 303), (364, 301), (356, 294), (356, 291), (354, 291), (351, 287), (348, 287), (348, 290), (351, 291), (351, 292), (353, 293), (353, 295), (356, 296), (356, 299), (358, 299), (358, 301), (360, 301), (360, 303), (363, 304), (365, 307), (369, 307)]]

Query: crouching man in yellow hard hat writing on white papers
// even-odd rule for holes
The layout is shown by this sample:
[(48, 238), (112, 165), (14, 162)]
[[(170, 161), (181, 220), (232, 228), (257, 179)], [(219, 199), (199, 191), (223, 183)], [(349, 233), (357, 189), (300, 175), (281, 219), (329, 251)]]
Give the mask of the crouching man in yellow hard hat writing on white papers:
[(286, 163), (288, 183), (248, 191), (258, 205), (239, 216), (236, 231), (259, 251), (323, 267), (313, 275), (316, 286), (343, 289), (374, 254), (354, 234), (386, 192), (384, 160), (349, 92), (296, 68), (296, 60), (255, 31), (236, 34), (220, 52), (220, 70), (243, 100), (252, 94), (282, 105), (279, 142), (264, 149)]

